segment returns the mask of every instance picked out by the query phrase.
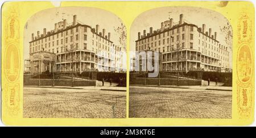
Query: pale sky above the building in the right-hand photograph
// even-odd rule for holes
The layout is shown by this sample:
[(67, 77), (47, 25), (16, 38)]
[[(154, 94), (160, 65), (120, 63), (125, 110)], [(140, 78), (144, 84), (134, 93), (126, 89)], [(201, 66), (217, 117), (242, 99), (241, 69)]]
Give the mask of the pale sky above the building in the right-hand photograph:
[[(198, 27), (206, 24), (206, 31), (212, 28), (212, 34), (217, 32), (217, 40), (223, 45), (226, 44), (225, 35), (221, 33), (220, 27), (226, 26), (229, 21), (220, 13), (199, 7), (160, 7), (145, 11), (134, 19), (130, 30), (130, 51), (135, 51), (135, 40), (138, 39), (138, 32), (143, 34), (143, 30), (146, 30), (148, 33), (150, 27), (153, 27), (153, 31), (157, 30), (161, 27), (161, 22), (169, 20), (169, 18), (173, 18), (175, 23), (179, 22), (180, 14), (183, 14), (185, 22), (196, 24)], [(230, 45), (229, 51), (232, 51), (232, 45)], [(232, 61), (232, 54), (229, 55), (230, 61)], [(130, 57), (133, 56), (134, 53), (131, 53)], [(232, 66), (232, 64), (230, 65)]]

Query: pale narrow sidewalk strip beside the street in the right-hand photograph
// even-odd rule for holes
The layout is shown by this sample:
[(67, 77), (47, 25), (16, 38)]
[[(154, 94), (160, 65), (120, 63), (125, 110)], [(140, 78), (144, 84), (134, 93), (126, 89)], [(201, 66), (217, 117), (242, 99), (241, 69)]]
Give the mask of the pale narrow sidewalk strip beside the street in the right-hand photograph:
[(170, 87), (170, 88), (180, 88), (180, 89), (197, 89), (197, 90), (223, 90), (232, 91), (232, 87), (225, 86), (174, 86), (174, 85), (130, 85), (130, 86), (140, 86), (140, 87)]

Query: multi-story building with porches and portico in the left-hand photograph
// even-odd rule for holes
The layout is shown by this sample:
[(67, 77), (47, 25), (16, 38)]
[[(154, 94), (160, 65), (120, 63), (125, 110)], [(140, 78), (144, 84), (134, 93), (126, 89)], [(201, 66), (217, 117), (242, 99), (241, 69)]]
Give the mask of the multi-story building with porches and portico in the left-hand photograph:
[(123, 71), (122, 48), (110, 40), (110, 35), (105, 29), (100, 32), (98, 24), (92, 28), (81, 23), (76, 15), (70, 24), (64, 19), (55, 23), (54, 30), (44, 28), (43, 34), (32, 34), (24, 72)]

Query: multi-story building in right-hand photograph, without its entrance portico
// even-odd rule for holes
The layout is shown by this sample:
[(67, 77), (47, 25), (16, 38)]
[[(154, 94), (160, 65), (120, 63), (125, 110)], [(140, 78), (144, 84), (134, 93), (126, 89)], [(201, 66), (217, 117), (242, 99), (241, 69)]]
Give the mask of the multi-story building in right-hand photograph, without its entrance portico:
[(136, 51), (158, 51), (162, 53), (162, 71), (181, 70), (218, 71), (229, 69), (229, 49), (217, 40), (217, 32), (188, 23), (180, 14), (179, 22), (171, 18), (161, 23), (161, 28), (143, 35), (138, 32)]

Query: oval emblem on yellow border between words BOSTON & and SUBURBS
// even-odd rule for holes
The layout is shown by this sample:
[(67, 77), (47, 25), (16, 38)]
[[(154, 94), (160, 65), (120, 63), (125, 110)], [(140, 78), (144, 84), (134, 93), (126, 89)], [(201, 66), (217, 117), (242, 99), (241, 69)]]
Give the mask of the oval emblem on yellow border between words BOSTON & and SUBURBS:
[(237, 76), (241, 82), (248, 82), (253, 73), (250, 47), (243, 44), (238, 51)]

